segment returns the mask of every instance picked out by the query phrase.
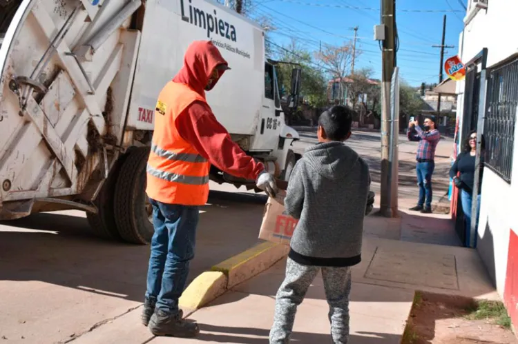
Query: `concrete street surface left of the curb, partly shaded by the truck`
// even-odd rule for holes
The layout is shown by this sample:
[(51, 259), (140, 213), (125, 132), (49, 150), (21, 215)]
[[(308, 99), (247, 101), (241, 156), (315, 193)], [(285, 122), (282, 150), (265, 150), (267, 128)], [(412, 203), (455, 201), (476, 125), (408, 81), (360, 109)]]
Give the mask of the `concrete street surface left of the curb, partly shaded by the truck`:
[[(264, 203), (260, 195), (211, 194), (188, 283), (256, 245)], [(139, 307), (148, 257), (148, 246), (97, 239), (84, 212), (0, 223), (0, 343), (64, 343)]]

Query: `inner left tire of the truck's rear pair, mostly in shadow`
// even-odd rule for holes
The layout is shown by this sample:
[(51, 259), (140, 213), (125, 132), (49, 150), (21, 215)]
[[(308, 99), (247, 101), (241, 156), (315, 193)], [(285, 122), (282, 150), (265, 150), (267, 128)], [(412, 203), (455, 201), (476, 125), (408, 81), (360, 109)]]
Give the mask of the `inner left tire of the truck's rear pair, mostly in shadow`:
[(120, 240), (121, 236), (119, 230), (117, 230), (117, 223), (115, 223), (115, 215), (113, 214), (113, 202), (115, 198), (115, 183), (117, 182), (117, 174), (119, 174), (121, 165), (128, 157), (130, 148), (126, 154), (119, 156), (119, 159), (115, 161), (108, 178), (102, 184), (97, 198), (93, 203), (97, 206), (97, 214), (93, 212), (86, 213), (86, 219), (88, 224), (92, 228), (95, 235), (100, 236), (104, 239), (115, 239)]

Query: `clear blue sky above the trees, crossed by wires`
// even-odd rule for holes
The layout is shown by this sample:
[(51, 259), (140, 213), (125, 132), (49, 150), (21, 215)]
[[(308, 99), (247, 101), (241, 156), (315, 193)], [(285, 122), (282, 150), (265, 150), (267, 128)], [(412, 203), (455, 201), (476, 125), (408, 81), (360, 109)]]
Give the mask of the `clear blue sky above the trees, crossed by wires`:
[[(292, 37), (313, 51), (318, 51), (320, 41), (322, 44), (343, 45), (354, 37), (352, 28), (358, 26), (356, 46), (362, 53), (356, 59), (355, 69), (371, 66), (375, 71), (374, 78), (381, 79), (381, 52), (373, 40), (373, 26), (379, 23), (379, 0), (254, 0), (253, 3), (255, 14), (267, 15), (273, 21), (277, 30), (270, 34), (270, 38), (280, 45), (289, 44)], [(346, 6), (373, 10), (355, 10)], [(445, 44), (455, 46), (446, 50), (447, 59), (457, 54), (459, 34), (463, 28), (461, 19), (465, 10), (459, 0), (396, 1), (400, 41), (397, 63), (401, 76), (411, 85), (439, 81), (440, 49), (432, 48), (432, 45), (441, 44), (444, 14), (447, 15)]]

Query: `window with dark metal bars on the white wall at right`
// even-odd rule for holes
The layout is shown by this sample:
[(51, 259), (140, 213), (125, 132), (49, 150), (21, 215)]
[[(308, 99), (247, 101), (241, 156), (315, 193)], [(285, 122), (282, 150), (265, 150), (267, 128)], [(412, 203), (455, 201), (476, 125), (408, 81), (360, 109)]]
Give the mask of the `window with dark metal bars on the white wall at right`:
[(518, 105), (518, 58), (490, 70), (484, 120), (484, 165), (510, 183)]

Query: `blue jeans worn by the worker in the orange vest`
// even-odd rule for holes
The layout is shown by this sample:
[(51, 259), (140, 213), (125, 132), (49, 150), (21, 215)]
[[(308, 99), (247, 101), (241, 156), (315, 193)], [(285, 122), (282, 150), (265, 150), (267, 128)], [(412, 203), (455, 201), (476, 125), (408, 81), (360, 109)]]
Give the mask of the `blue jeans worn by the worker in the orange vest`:
[(153, 205), (155, 234), (151, 239), (146, 299), (169, 314), (178, 313), (178, 299), (184, 291), (189, 262), (194, 258), (198, 207)]

